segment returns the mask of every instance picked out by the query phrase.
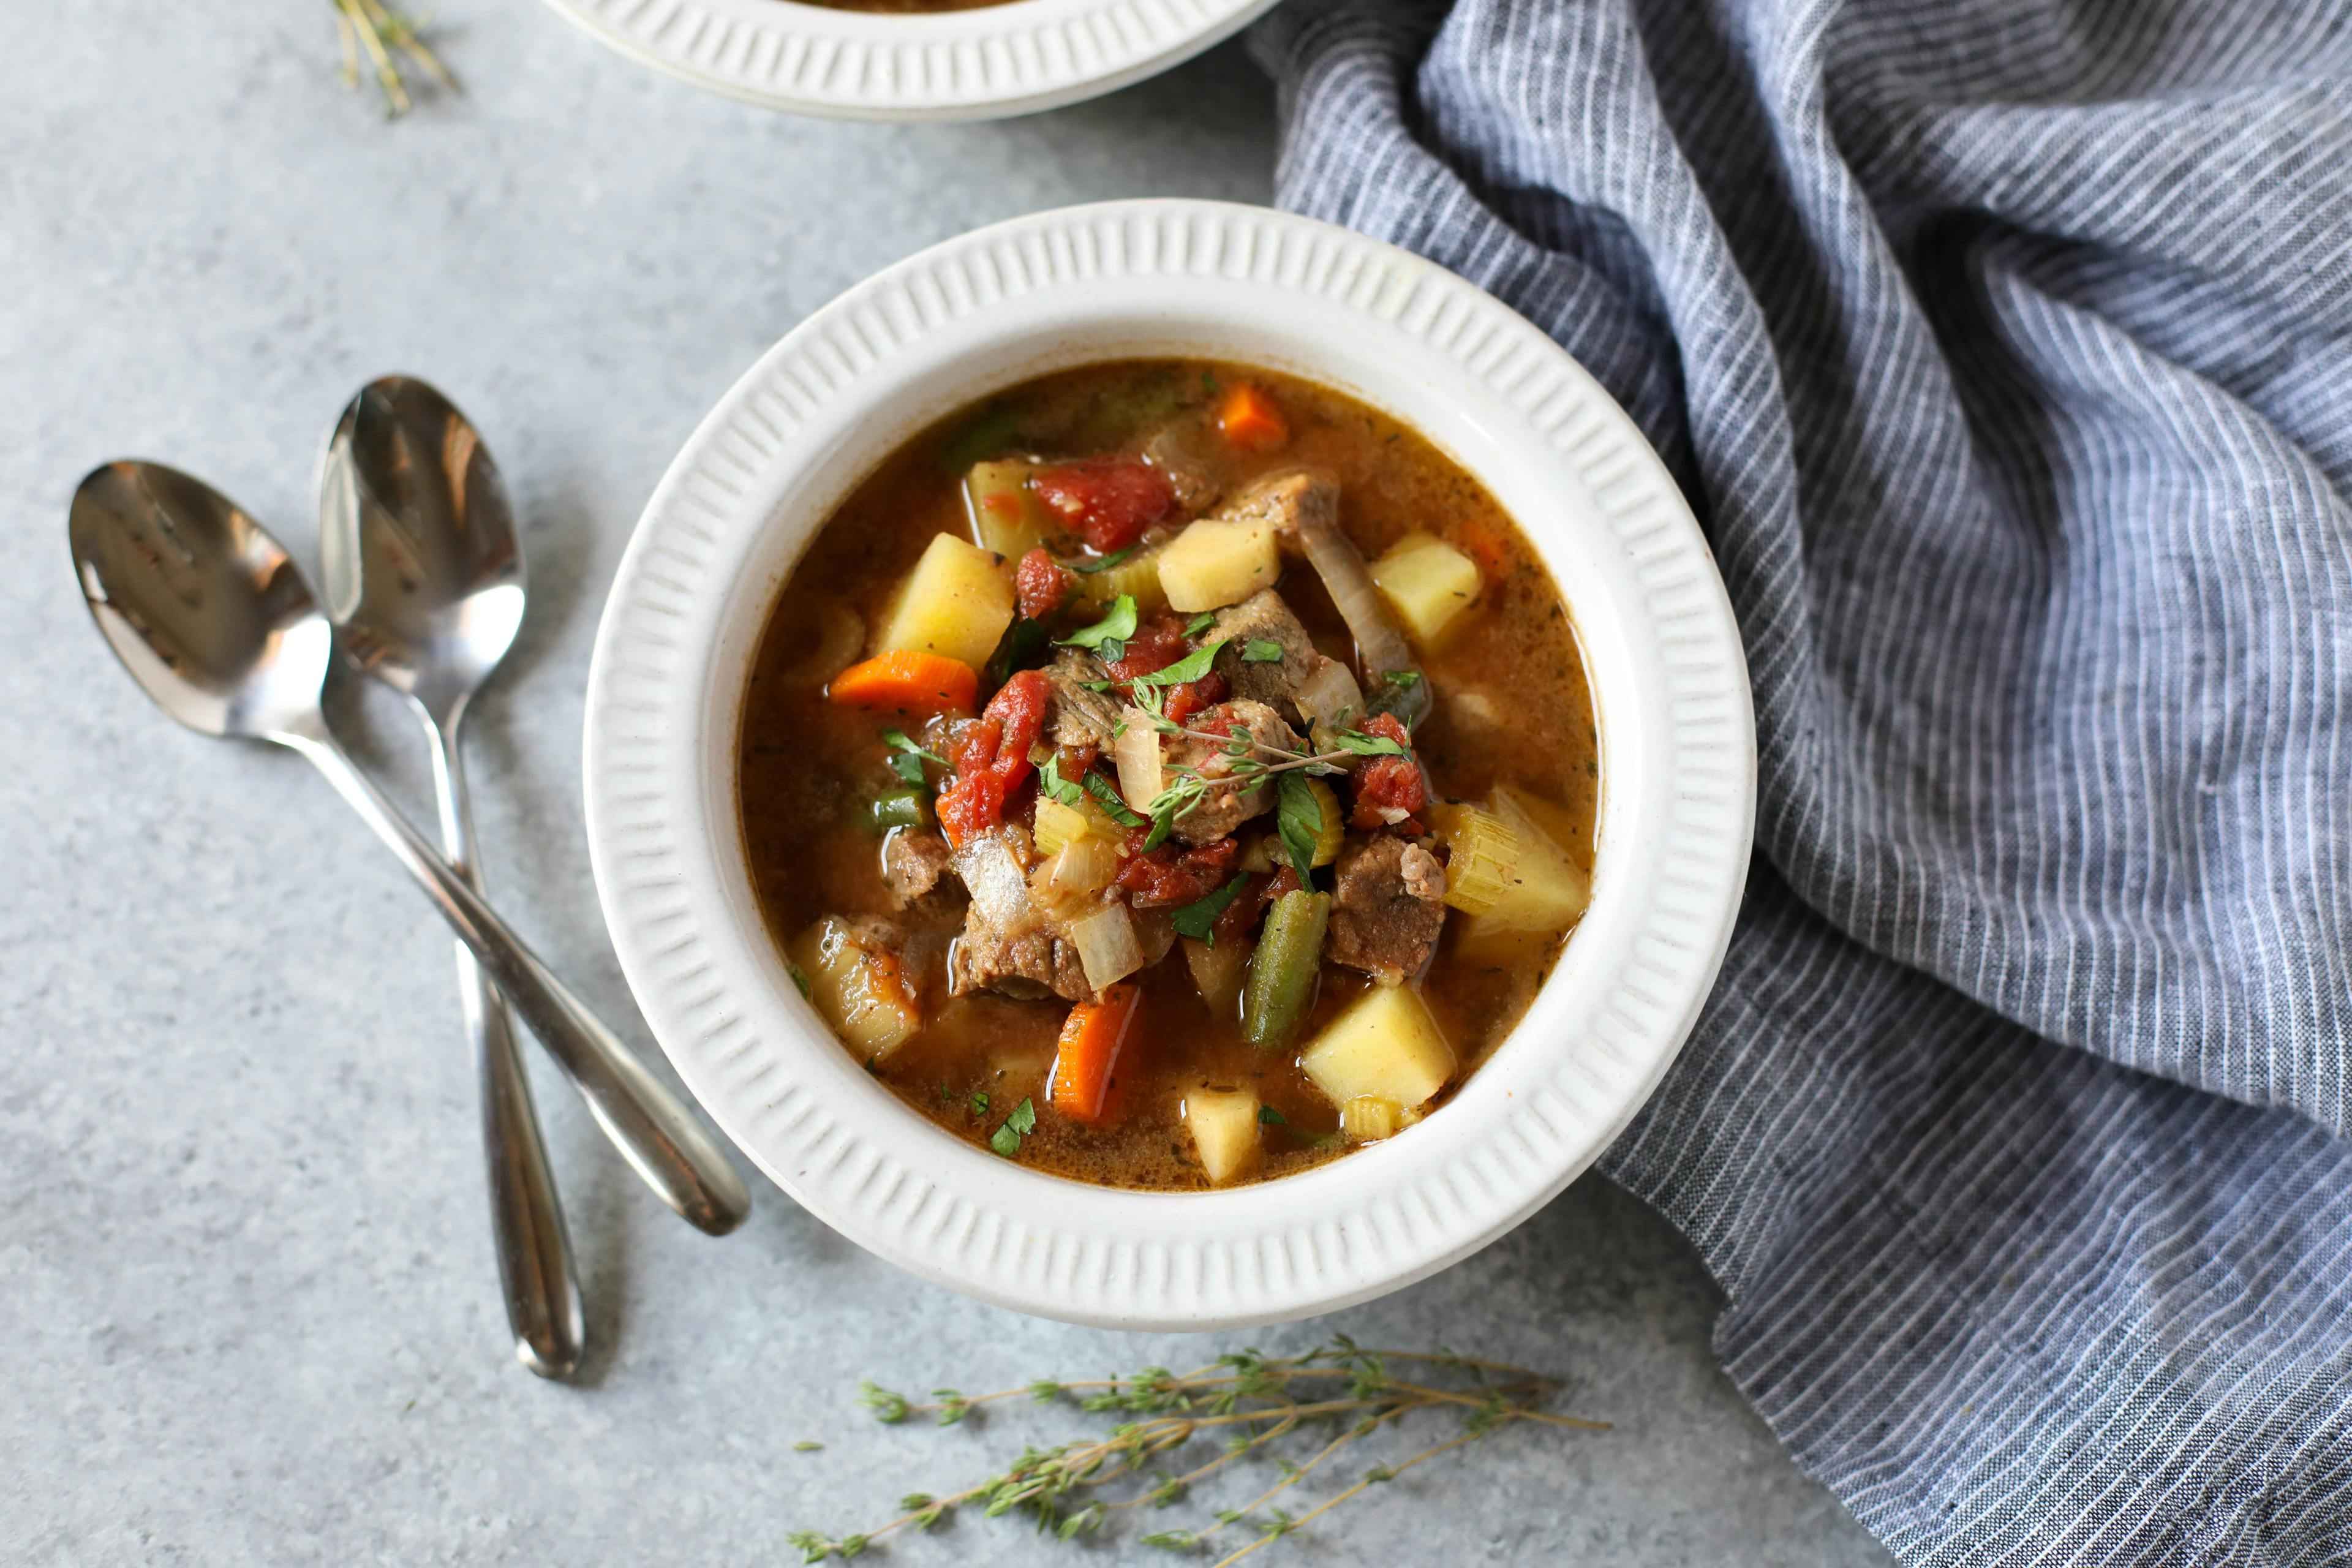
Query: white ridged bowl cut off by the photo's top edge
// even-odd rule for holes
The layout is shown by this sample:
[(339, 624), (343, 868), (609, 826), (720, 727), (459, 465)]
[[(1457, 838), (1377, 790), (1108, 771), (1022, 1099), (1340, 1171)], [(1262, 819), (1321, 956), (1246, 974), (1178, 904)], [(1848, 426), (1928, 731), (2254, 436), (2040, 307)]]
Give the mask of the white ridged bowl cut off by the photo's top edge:
[(630, 59), (833, 120), (997, 120), (1141, 82), (1275, 0), (1011, 0), (837, 12), (793, 0), (548, 0)]

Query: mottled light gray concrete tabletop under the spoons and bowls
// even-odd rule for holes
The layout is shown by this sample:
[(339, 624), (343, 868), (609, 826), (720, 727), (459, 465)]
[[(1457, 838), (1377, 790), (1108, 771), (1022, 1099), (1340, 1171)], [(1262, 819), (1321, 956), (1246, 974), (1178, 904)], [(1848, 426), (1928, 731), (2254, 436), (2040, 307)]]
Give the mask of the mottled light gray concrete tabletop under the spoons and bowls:
[[(325, 421), (440, 381), (517, 489), (532, 616), (473, 731), (489, 877), (626, 1018), (581, 844), (588, 644), (647, 491), (771, 339), (990, 219), (1141, 193), (1263, 200), (1235, 47), (993, 127), (837, 127), (659, 80), (522, 0), (445, 0), (470, 92), (400, 125), (334, 80), (329, 9), (16, 7), (0, 103), (0, 1561), (779, 1563), (1056, 1432), (870, 1425), (929, 1389), (1230, 1342), (1004, 1314), (901, 1276), (774, 1190), (675, 1225), (541, 1074), (590, 1300), (576, 1387), (508, 1356), (447, 943), (299, 762), (176, 731), (66, 571), (96, 461), (179, 461), (306, 559)], [(402, 715), (350, 701), (419, 802)], [(1385, 1302), (1249, 1335), (1446, 1342), (1571, 1382), (1606, 1436), (1510, 1432), (1256, 1561), (1879, 1563), (1708, 1354), (1682, 1241), (1583, 1182)], [(823, 1441), (797, 1453), (795, 1441)], [(1120, 1542), (1091, 1561), (1167, 1561)], [(1025, 1563), (1004, 1523), (901, 1563)]]

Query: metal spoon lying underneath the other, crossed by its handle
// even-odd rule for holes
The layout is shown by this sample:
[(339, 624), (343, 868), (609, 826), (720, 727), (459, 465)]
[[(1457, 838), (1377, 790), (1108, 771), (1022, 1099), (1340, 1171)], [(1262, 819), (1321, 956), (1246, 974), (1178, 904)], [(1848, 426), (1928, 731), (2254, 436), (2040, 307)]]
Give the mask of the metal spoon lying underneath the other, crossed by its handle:
[[(459, 726), (522, 625), (522, 543), (489, 449), (423, 381), (386, 376), (343, 409), (320, 463), (318, 562), (346, 656), (405, 693), (433, 738), (442, 858), (482, 891)], [(492, 1237), (515, 1354), (569, 1378), (586, 1326), (564, 1211), (506, 1001), (459, 943), (482, 1084)]]

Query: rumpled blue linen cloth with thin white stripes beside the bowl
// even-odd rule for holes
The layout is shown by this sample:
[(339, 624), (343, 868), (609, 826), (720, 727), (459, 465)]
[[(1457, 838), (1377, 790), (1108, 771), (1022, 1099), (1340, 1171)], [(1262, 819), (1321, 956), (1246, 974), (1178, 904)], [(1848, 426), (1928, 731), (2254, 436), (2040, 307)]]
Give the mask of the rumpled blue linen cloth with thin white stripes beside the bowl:
[(2352, 1561), (2352, 7), (1289, 0), (1279, 200), (1675, 468), (1757, 693), (1604, 1168), (1905, 1563)]

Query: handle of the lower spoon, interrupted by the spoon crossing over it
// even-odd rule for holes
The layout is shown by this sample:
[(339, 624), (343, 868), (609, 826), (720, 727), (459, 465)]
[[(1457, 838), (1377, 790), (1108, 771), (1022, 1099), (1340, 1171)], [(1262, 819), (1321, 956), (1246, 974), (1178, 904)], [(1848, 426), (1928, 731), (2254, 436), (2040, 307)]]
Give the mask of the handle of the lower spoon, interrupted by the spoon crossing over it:
[[(423, 719), (433, 738), (433, 799), (440, 811), (442, 858), (466, 884), (482, 891), (482, 858), (473, 839), (473, 806), (466, 802), (466, 759), (456, 724)], [(506, 1291), (506, 1326), (515, 1354), (541, 1378), (569, 1378), (586, 1347), (581, 1284), (572, 1269), (572, 1239), (555, 1197), (548, 1147), (539, 1138), (532, 1079), (522, 1072), (515, 1025), (506, 997), (456, 947), (456, 990), (466, 1006), (475, 1074), (482, 1081), (482, 1159), (489, 1171), (489, 1218), (499, 1248), (499, 1284)]]

